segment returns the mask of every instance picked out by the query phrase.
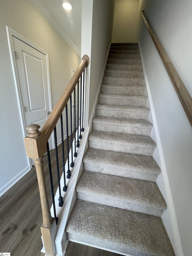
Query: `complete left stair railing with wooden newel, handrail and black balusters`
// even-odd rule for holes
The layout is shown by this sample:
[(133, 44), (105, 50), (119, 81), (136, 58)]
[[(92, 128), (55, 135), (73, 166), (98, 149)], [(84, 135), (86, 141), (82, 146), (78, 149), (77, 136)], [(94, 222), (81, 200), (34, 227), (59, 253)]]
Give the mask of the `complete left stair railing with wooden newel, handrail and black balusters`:
[[(67, 170), (67, 179), (70, 179), (71, 171), (70, 167), (74, 166), (73, 157), (77, 157), (76, 148), (79, 147), (79, 140), (82, 138), (83, 128), (83, 112), (84, 112), (84, 81), (85, 81), (85, 68), (89, 65), (89, 57), (84, 55), (82, 57), (82, 62), (77, 68), (75, 74), (71, 78), (68, 83), (66, 89), (64, 90), (61, 98), (58, 100), (57, 104), (53, 108), (50, 113), (49, 118), (46, 120), (44, 126), (41, 131), (39, 131), (40, 126), (38, 124), (31, 124), (26, 127), (28, 133), (24, 138), (26, 154), (28, 157), (32, 158), (35, 162), (36, 173), (38, 178), (38, 186), (40, 192), (41, 199), (41, 208), (43, 215), (43, 224), (41, 225), (41, 233), (44, 243), (44, 249), (47, 256), (55, 256), (56, 248), (55, 248), (55, 237), (56, 237), (56, 224), (58, 222), (58, 218), (56, 216), (55, 210), (55, 199), (54, 199), (54, 191), (53, 191), (53, 181), (52, 181), (52, 170), (51, 170), (51, 161), (49, 154), (49, 137), (54, 131), (55, 138), (55, 153), (56, 153), (56, 165), (57, 165), (57, 176), (58, 176), (58, 190), (59, 190), (59, 206), (63, 206), (63, 197), (61, 196), (61, 185), (60, 185), (60, 174), (59, 174), (59, 164), (58, 164), (58, 149), (57, 149), (57, 133), (56, 133), (56, 124), (60, 118), (61, 120), (61, 143), (62, 143), (62, 157), (63, 157), (63, 174), (64, 174), (64, 187), (63, 191), (67, 191), (66, 180), (65, 180), (65, 159), (64, 159), (64, 140), (63, 140), (63, 117), (62, 113), (65, 108), (66, 113), (66, 131), (67, 131), (67, 162), (68, 162), (68, 170)], [(80, 79), (80, 86), (79, 86)], [(83, 83), (82, 83), (83, 80)], [(76, 87), (77, 87), (77, 127), (76, 127), (76, 108), (74, 107), (74, 154), (73, 154), (73, 129), (72, 129), (72, 93), (74, 92), (74, 103), (76, 102)], [(80, 88), (79, 88), (80, 87)], [(79, 102), (80, 95), (80, 102)], [(67, 110), (67, 102), (70, 100), (70, 132), (71, 132), (71, 149), (69, 149), (69, 130), (68, 130), (68, 110)], [(75, 105), (75, 104), (74, 104)], [(80, 109), (79, 109), (80, 108)], [(80, 111), (79, 111), (80, 110)], [(80, 112), (80, 113), (79, 113)], [(76, 129), (77, 129), (77, 137), (76, 137)], [(77, 141), (76, 141), (77, 138)], [(77, 144), (76, 144), (77, 143)], [(69, 152), (71, 150), (71, 164), (69, 163)], [(53, 200), (53, 211), (54, 216), (51, 216), (48, 194), (46, 190), (46, 182), (44, 175), (44, 166), (43, 166), (43, 157), (47, 152), (48, 164), (49, 164), (49, 175), (50, 175), (50, 183), (51, 183), (51, 192), (52, 192), (52, 200)], [(69, 166), (70, 164), (70, 166)]]

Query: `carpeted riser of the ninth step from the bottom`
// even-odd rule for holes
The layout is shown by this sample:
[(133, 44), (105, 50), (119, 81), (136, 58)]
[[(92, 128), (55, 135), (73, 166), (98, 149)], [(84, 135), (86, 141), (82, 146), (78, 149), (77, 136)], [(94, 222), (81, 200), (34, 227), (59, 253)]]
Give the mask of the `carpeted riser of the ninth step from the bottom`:
[(103, 84), (108, 84), (108, 85), (130, 85), (130, 86), (143, 86), (143, 80), (129, 80), (129, 79), (116, 79), (110, 78), (110, 77), (104, 77), (103, 78)]

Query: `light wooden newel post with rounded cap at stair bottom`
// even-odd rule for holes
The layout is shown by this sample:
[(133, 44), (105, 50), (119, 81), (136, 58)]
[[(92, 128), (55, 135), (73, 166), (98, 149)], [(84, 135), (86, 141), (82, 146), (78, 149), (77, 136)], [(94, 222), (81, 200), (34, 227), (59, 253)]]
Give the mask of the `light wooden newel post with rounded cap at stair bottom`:
[(43, 237), (44, 248), (47, 256), (55, 256), (55, 237), (56, 237), (56, 222), (52, 218), (49, 206), (49, 200), (46, 191), (46, 182), (43, 167), (43, 156), (46, 153), (46, 140), (44, 134), (38, 129), (37, 124), (27, 126), (28, 134), (24, 138), (26, 154), (35, 161), (37, 179), (39, 185), (39, 193), (41, 199), (41, 208), (43, 215), (43, 224), (41, 233)]

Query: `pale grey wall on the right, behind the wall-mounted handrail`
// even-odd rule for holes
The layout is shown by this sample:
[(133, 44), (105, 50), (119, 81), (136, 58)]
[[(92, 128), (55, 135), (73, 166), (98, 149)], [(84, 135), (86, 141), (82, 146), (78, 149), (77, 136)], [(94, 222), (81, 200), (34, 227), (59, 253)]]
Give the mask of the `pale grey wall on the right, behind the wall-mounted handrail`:
[[(192, 1), (146, 0), (144, 13), (192, 96)], [(143, 3), (140, 5), (143, 7)], [(142, 8), (143, 9), (143, 8)], [(144, 23), (140, 45), (160, 134), (182, 248), (192, 253), (192, 128)], [(158, 185), (164, 191), (162, 177)], [(164, 192), (163, 192), (164, 193)], [(169, 200), (168, 200), (169, 201)], [(166, 212), (162, 219), (169, 218)], [(176, 231), (176, 225), (173, 227)], [(168, 233), (170, 232), (167, 224)], [(174, 231), (174, 230), (173, 230)], [(171, 233), (171, 232), (170, 232)], [(179, 240), (177, 240), (179, 241)], [(182, 254), (183, 250), (183, 254)]]

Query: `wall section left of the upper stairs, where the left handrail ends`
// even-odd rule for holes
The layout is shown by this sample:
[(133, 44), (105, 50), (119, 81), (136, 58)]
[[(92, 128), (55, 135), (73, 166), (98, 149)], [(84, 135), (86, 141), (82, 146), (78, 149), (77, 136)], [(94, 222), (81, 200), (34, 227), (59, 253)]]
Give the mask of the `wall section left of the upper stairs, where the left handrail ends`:
[[(90, 58), (86, 77), (90, 83), (86, 91), (89, 94), (88, 119), (91, 118), (107, 51), (112, 39), (113, 14), (114, 2), (111, 0), (82, 1), (81, 54), (82, 56), (87, 54)], [(86, 96), (88, 98), (88, 95)]]

